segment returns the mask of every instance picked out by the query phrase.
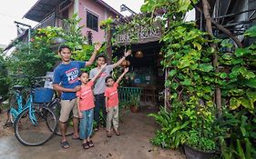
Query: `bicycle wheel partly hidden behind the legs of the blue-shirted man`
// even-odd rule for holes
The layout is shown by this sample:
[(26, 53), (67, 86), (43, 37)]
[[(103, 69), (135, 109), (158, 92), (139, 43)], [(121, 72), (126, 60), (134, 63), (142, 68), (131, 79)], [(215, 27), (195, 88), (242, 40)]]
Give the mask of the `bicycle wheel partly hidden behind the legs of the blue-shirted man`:
[[(60, 103), (55, 103), (55, 104), (51, 104), (49, 105), (49, 107), (51, 108), (51, 110), (54, 112), (54, 114), (56, 115), (56, 120), (57, 120), (57, 123), (59, 122), (59, 115), (60, 115), (60, 108), (61, 108), (61, 105)], [(49, 128), (53, 131), (53, 127), (49, 126)], [(56, 126), (56, 132), (55, 132), (57, 135), (61, 135), (61, 132), (60, 132), (60, 128), (59, 128), (59, 124), (57, 124)], [(71, 135), (71, 134), (74, 134), (74, 128), (73, 128), (73, 114), (71, 113), (69, 115), (69, 119), (67, 121), (67, 132), (66, 132), (66, 135)]]

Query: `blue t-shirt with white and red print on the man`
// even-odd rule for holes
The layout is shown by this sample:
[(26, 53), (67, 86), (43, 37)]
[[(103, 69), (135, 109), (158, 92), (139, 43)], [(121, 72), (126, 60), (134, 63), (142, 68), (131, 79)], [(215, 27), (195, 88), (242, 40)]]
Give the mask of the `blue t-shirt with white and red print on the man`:
[[(64, 88), (75, 88), (78, 84), (78, 75), (80, 69), (86, 66), (86, 62), (71, 61), (69, 64), (60, 64), (54, 71), (53, 84), (60, 84)], [(64, 92), (61, 94), (61, 99), (71, 100), (76, 98), (75, 92)]]

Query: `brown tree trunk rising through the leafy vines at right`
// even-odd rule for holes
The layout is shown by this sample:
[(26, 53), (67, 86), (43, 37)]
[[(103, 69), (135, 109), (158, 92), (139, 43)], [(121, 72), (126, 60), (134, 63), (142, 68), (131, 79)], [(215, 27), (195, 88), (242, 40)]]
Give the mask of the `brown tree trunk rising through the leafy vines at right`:
[[(213, 34), (212, 34), (212, 26), (211, 26), (211, 17), (209, 13), (210, 5), (207, 0), (202, 0), (202, 5), (203, 5), (203, 14), (206, 20), (206, 31), (212, 37)], [(216, 53), (217, 45), (214, 43), (211, 43), (210, 46), (213, 47), (215, 50), (212, 55), (212, 65), (215, 68), (215, 73), (219, 73), (218, 55)], [(219, 86), (216, 86), (215, 88), (215, 103), (217, 105), (218, 115), (220, 116), (220, 114), (222, 114), (222, 109), (221, 109), (221, 92), (220, 92)]]

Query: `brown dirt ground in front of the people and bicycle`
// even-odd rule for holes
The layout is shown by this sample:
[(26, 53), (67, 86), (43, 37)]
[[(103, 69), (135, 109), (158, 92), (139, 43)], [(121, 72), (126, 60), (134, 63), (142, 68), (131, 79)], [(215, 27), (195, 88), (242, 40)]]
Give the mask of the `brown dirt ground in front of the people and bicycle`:
[(156, 112), (155, 107), (147, 106), (137, 114), (129, 110), (120, 113), (120, 136), (106, 136), (102, 128), (93, 135), (95, 147), (82, 149), (81, 142), (68, 137), (71, 147), (64, 150), (60, 147), (59, 136), (41, 146), (25, 146), (20, 144), (13, 133), (12, 127), (3, 128), (6, 114), (0, 114), (0, 158), (93, 158), (93, 159), (185, 159), (179, 151), (162, 149), (149, 143), (154, 136), (157, 124), (147, 114)]

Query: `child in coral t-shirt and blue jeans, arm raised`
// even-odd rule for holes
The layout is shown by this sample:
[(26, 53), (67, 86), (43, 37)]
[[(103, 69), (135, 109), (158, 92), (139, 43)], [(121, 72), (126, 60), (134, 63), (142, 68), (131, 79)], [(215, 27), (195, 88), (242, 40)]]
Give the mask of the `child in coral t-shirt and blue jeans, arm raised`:
[(83, 140), (82, 145), (84, 149), (94, 146), (92, 140), (90, 140), (93, 128), (93, 109), (95, 107), (92, 86), (97, 76), (105, 67), (106, 65), (102, 65), (98, 70), (97, 75), (90, 81), (89, 75), (86, 72), (82, 72), (78, 77), (78, 80), (81, 81), (81, 90), (77, 92), (77, 111), (80, 118), (79, 134), (80, 139)]

